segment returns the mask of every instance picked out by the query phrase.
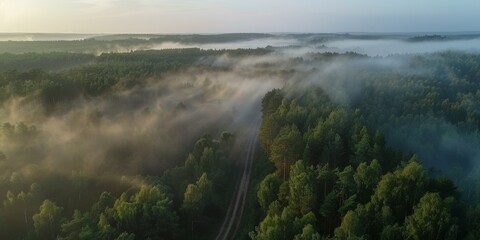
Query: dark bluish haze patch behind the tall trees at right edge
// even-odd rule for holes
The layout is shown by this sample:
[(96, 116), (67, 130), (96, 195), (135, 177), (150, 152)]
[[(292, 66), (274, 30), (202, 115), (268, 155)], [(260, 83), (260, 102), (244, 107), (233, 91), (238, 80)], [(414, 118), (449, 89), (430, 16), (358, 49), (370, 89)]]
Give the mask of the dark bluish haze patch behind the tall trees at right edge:
[(474, 175), (480, 167), (478, 133), (461, 131), (443, 119), (417, 117), (401, 120), (392, 123), (387, 131), (393, 147), (414, 152), (425, 167), (436, 174), (440, 171), (460, 180), (466, 177), (463, 175), (466, 172)]

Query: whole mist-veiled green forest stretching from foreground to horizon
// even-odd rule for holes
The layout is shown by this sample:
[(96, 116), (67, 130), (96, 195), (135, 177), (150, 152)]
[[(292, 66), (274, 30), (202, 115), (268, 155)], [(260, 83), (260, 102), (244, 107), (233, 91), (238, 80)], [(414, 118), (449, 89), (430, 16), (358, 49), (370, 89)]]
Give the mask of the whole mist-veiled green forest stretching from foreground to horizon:
[(461, 38), (0, 42), (0, 239), (479, 239), (480, 54), (338, 47)]

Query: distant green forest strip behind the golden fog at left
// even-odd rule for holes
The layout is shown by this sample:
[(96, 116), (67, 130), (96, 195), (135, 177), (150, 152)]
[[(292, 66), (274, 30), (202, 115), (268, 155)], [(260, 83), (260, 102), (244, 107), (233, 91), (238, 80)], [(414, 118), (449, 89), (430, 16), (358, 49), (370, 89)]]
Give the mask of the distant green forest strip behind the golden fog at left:
[[(89, 42), (79, 41), (77, 43)], [(28, 43), (2, 42), (0, 43), (0, 52), (2, 45), (5, 44), (24, 45)], [(40, 42), (31, 44), (40, 44)], [(58, 46), (62, 44), (68, 44), (68, 42), (55, 42), (55, 45)], [(105, 43), (105, 45), (108, 44)], [(71, 49), (69, 51), (75, 52)], [(150, 77), (160, 77), (168, 72), (190, 66), (201, 67), (197, 61), (202, 57), (223, 54), (262, 55), (268, 52), (270, 50), (266, 49), (201, 50), (187, 48), (102, 53), (97, 57), (90, 54), (61, 52), (24, 53), (21, 55), (3, 53), (0, 54), (0, 101), (40, 93), (43, 105), (46, 108), (52, 108), (58, 103), (71, 101), (82, 95), (99, 96), (115, 90), (129, 89), (142, 84)], [(52, 70), (57, 72), (49, 72)]]

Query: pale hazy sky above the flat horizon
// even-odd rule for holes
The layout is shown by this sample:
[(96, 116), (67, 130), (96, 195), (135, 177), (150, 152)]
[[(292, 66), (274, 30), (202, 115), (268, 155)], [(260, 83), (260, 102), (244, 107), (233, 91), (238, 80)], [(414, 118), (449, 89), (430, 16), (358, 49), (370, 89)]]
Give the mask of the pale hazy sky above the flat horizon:
[(458, 32), (478, 0), (0, 0), (0, 32)]

